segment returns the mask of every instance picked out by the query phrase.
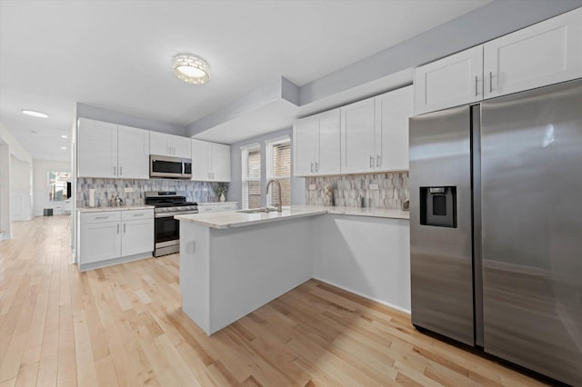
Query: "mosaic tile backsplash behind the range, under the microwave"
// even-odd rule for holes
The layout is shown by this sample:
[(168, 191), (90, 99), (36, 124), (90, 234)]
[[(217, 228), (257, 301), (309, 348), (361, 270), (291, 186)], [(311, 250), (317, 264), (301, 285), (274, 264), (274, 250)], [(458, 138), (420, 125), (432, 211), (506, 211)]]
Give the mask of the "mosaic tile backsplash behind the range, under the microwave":
[[(188, 202), (218, 202), (218, 196), (212, 186), (213, 183), (189, 180), (78, 178), (76, 181), (76, 203), (79, 207), (88, 206), (90, 189), (95, 190), (95, 207), (108, 206), (112, 195), (119, 195), (125, 205), (143, 205), (146, 202), (146, 191), (184, 192)], [(133, 188), (134, 191), (125, 193), (125, 188)]]

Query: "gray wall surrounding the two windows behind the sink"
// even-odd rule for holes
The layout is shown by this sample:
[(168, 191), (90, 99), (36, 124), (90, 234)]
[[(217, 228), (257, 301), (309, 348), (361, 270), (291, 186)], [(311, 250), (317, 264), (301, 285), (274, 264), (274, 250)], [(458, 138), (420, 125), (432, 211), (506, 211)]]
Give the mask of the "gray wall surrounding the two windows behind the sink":
[[(232, 175), (232, 182), (228, 188), (227, 200), (229, 202), (238, 202), (239, 206), (243, 203), (242, 198), (242, 164), (241, 164), (241, 154), (240, 147), (248, 144), (261, 144), (261, 190), (263, 195), (261, 197), (261, 206), (266, 206), (266, 152), (265, 152), (265, 142), (277, 137), (282, 137), (288, 135), (293, 141), (293, 129), (288, 128), (269, 134), (260, 135), (257, 137), (249, 138), (245, 141), (241, 141), (230, 146), (230, 171)], [(293, 148), (291, 152), (291, 165), (293, 165)], [(293, 176), (293, 171), (291, 171), (291, 176)], [(306, 203), (306, 179), (303, 177), (291, 177), (291, 204), (305, 204)]]

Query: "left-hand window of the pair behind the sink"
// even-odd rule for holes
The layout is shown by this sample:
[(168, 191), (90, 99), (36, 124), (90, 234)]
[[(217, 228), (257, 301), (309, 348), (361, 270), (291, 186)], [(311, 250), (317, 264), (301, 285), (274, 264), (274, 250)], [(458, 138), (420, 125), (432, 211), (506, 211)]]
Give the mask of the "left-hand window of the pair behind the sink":
[(241, 147), (243, 209), (261, 206), (261, 145), (252, 144)]

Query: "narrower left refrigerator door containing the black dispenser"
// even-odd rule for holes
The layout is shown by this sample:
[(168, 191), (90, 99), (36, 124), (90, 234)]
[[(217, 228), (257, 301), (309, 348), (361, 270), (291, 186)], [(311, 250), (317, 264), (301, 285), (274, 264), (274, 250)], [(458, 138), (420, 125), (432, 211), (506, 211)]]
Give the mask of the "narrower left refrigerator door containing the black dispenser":
[(470, 130), (468, 106), (410, 119), (410, 270), (412, 323), (473, 345)]

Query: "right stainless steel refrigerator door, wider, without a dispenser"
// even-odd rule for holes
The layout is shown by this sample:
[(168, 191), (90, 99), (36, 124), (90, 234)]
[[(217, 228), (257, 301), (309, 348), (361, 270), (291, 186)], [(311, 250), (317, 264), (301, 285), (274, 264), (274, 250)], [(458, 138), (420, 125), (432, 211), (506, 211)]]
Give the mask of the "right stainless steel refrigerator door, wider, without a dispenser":
[(582, 81), (482, 116), (485, 351), (582, 385)]

